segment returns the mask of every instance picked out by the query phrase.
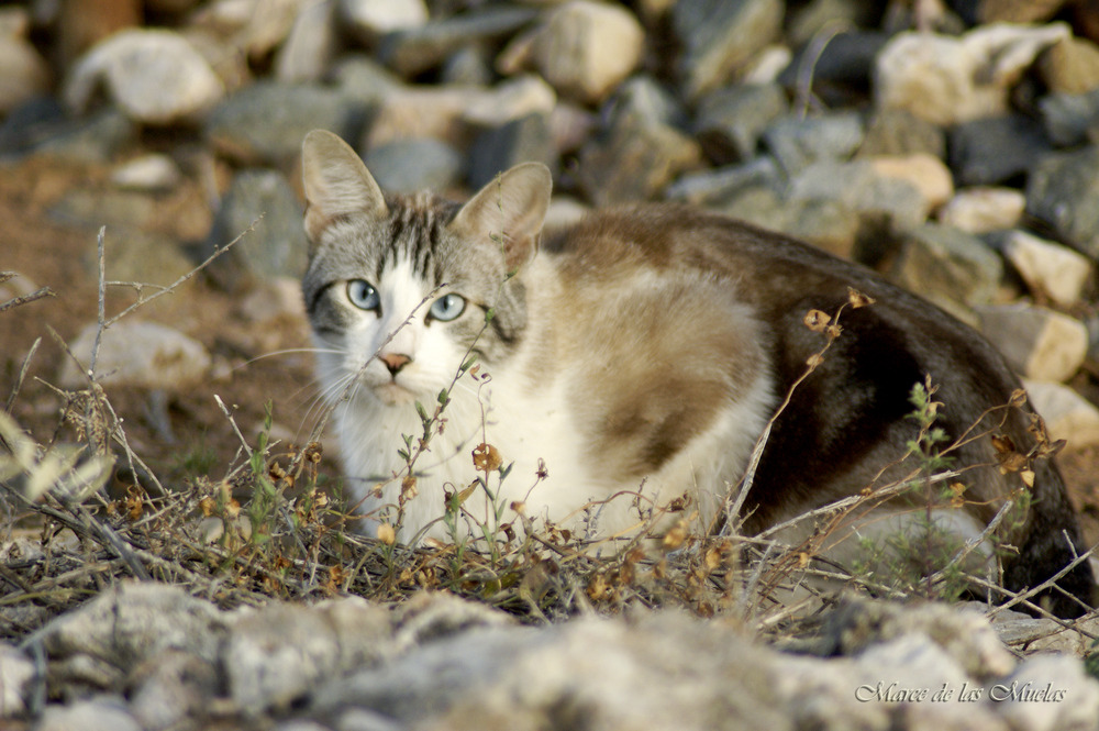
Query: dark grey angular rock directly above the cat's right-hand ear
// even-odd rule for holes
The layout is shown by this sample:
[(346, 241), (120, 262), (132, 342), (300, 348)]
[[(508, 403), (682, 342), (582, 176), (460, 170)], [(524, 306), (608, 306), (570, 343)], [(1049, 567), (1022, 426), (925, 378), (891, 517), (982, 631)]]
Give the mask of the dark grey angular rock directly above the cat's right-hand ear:
[(477, 135), (469, 151), (469, 186), (479, 190), (498, 173), (529, 160), (545, 163), (551, 170), (557, 167), (545, 114), (529, 114)]

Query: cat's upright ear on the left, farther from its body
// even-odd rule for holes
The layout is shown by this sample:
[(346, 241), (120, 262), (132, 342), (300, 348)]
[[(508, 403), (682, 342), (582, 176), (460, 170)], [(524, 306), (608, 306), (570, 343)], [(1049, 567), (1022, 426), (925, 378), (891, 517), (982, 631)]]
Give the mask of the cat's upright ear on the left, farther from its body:
[(332, 221), (348, 213), (386, 215), (381, 188), (351, 145), (324, 130), (301, 143), (301, 178), (306, 191), (306, 234), (315, 244)]

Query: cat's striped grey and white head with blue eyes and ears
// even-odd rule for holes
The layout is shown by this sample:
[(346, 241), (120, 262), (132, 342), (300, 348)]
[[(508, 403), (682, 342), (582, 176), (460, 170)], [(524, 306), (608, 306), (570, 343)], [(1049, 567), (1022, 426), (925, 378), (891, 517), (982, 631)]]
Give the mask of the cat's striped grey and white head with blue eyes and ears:
[(430, 400), (470, 350), (488, 363), (514, 350), (526, 325), (521, 270), (550, 204), (544, 165), (513, 167), (464, 206), (386, 196), (351, 146), (314, 130), (302, 179), (302, 292), (332, 397), (357, 379), (387, 405)]

